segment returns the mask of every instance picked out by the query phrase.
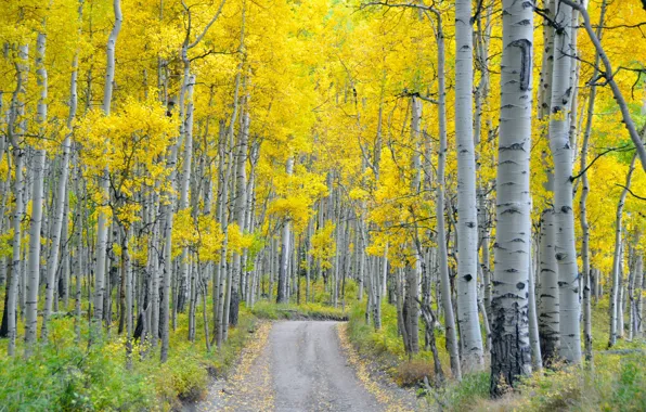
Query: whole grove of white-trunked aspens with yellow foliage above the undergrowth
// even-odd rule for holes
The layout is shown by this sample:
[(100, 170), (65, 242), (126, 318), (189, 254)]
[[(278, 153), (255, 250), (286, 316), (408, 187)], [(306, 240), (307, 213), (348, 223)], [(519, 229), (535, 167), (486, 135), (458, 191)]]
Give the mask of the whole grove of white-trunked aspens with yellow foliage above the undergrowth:
[(5, 0), (0, 21), (1, 357), (61, 319), (130, 369), (222, 352), (260, 304), (374, 331), (392, 307), (427, 387), (487, 373), (498, 398), (643, 343), (644, 1)]

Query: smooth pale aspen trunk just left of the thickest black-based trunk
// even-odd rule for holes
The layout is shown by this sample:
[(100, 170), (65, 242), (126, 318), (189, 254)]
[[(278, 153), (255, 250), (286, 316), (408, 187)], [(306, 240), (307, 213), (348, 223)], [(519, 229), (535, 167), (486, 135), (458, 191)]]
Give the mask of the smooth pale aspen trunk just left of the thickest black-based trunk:
[(455, 139), (457, 145), (456, 302), (465, 368), (484, 368), (478, 318), (478, 217), (473, 129), (474, 29), (471, 1), (455, 2)]

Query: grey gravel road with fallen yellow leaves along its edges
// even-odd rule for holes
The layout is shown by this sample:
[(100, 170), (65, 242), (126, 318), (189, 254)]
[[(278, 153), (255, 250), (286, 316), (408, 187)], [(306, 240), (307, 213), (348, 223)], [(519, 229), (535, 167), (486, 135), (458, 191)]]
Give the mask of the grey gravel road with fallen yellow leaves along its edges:
[(347, 342), (344, 323), (266, 323), (228, 381), (195, 411), (412, 411), (415, 397), (375, 379)]

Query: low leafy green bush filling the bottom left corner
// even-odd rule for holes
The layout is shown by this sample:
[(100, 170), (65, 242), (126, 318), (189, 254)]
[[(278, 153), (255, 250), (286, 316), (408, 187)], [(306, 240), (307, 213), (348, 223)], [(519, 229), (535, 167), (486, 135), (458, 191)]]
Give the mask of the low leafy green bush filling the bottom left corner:
[(154, 404), (155, 388), (109, 345), (48, 344), (27, 360), (0, 360), (0, 411), (142, 410)]

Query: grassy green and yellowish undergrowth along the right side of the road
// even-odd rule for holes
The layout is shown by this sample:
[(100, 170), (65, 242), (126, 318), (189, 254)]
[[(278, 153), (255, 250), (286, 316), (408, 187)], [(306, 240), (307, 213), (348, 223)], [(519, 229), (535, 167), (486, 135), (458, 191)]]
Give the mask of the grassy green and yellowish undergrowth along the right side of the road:
[[(646, 343), (643, 339), (618, 340), (613, 351), (606, 351), (608, 339), (608, 301), (593, 306), (594, 368), (559, 365), (527, 377), (502, 399), (489, 397), (490, 373), (465, 374), (461, 382), (450, 377), (449, 356), (441, 329), (436, 339), (447, 381), (428, 390), (427, 376), (435, 382), (431, 353), (422, 350), (409, 359), (397, 331), (397, 310), (384, 302), (382, 330), (365, 323), (365, 302), (356, 304), (348, 322), (348, 337), (358, 352), (401, 386), (418, 388), (430, 410), (461, 411), (646, 411)], [(419, 344), (424, 346), (424, 336)]]

